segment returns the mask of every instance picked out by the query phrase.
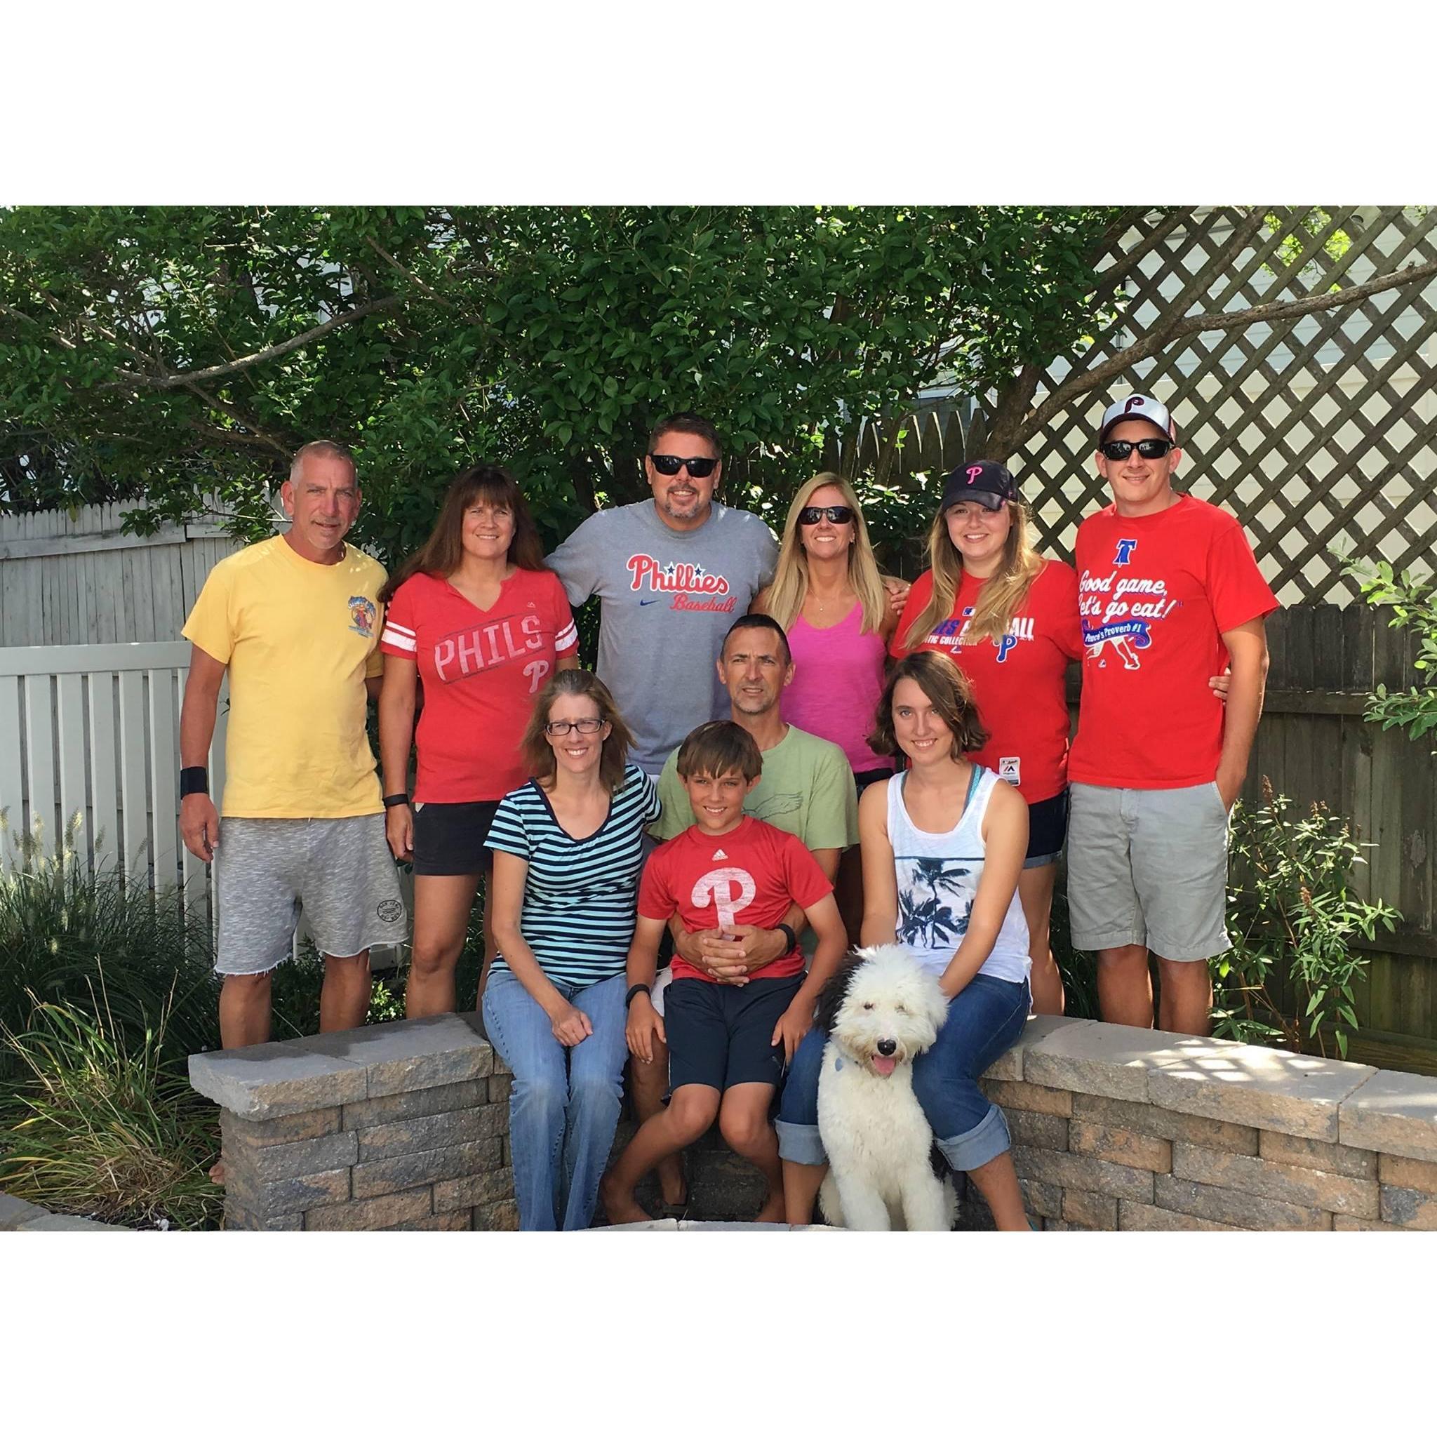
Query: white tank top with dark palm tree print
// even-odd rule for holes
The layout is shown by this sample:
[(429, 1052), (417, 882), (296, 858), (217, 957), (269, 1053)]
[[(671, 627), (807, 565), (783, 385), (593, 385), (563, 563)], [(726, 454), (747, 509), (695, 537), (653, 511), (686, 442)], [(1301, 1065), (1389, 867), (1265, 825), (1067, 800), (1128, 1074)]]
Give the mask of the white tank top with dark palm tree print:
[[(902, 802), (907, 773), (888, 783), (888, 842), (898, 878), (898, 941), (927, 969), (941, 973), (969, 931), (969, 914), (983, 877), (983, 815), (997, 787), (992, 769), (973, 766), (967, 802), (957, 828), (925, 833), (915, 828)], [(989, 977), (1022, 983), (1027, 956), (1027, 921), (1013, 894), (987, 961)]]

